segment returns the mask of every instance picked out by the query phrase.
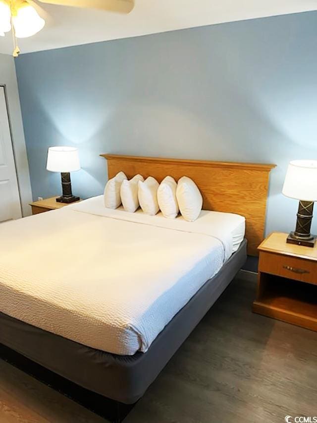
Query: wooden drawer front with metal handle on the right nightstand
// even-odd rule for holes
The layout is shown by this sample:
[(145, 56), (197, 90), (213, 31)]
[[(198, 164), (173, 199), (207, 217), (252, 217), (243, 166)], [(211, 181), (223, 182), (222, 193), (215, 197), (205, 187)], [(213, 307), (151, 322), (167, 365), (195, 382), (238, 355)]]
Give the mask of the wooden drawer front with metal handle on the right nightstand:
[(316, 261), (261, 251), (259, 272), (317, 285)]

